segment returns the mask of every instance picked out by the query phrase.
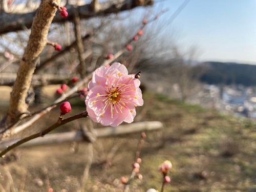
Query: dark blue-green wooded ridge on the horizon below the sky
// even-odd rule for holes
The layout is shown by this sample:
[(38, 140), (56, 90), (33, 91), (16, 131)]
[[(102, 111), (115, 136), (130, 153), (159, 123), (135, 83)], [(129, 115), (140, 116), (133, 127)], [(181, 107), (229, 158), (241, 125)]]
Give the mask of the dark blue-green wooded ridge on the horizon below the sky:
[(208, 84), (256, 86), (256, 66), (254, 65), (208, 61), (201, 63), (198, 67), (206, 69), (200, 80)]

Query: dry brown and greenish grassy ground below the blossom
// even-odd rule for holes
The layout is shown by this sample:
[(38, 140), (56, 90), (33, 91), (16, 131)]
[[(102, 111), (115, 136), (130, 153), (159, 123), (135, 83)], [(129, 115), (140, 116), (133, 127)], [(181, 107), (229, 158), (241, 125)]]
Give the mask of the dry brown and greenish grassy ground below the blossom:
[[(254, 122), (161, 95), (146, 93), (144, 99), (145, 105), (138, 108), (138, 119), (159, 120), (165, 127), (162, 132), (147, 133), (141, 153), (143, 180), (135, 180), (131, 191), (160, 189), (157, 168), (165, 159), (173, 163), (172, 182), (165, 191), (256, 190)], [(84, 109), (80, 100), (73, 100), (73, 104), (73, 113)], [(40, 120), (24, 134), (42, 129), (57, 116), (56, 109), (45, 117), (47, 121)], [(77, 129), (79, 123), (86, 122), (72, 122), (58, 131)], [(97, 140), (86, 191), (122, 191), (119, 178), (131, 173), (138, 138), (134, 134)], [(72, 150), (74, 146), (78, 151)], [(47, 191), (49, 187), (54, 191), (79, 191), (87, 161), (86, 146), (65, 143), (17, 149), (20, 159), (0, 168), (0, 191)]]

